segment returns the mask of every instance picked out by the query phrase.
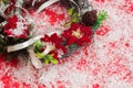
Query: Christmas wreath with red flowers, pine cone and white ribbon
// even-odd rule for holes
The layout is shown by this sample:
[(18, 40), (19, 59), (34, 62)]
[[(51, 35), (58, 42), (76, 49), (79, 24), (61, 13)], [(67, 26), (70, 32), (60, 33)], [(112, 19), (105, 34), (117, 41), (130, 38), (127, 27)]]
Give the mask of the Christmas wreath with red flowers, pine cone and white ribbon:
[[(29, 10), (37, 14), (60, 2), (71, 15), (63, 32), (35, 35)], [(91, 43), (95, 30), (105, 20), (105, 11), (98, 12), (88, 0), (0, 0), (0, 53), (7, 58), (27, 56), (35, 68), (58, 64), (79, 47)]]

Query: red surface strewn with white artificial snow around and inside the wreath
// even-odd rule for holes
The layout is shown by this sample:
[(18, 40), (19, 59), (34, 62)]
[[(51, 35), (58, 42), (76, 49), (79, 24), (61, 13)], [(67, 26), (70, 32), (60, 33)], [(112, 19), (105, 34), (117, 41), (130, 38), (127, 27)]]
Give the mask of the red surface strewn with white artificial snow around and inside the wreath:
[[(41, 70), (22, 59), (7, 64), (0, 55), (0, 88), (133, 88), (133, 2), (90, 1), (95, 9), (109, 13), (91, 45), (63, 58), (59, 65), (45, 65)], [(53, 7), (39, 14), (37, 22), (42, 22), (45, 15), (44, 23), (52, 25), (66, 19), (66, 14), (54, 11)]]

